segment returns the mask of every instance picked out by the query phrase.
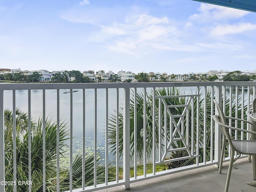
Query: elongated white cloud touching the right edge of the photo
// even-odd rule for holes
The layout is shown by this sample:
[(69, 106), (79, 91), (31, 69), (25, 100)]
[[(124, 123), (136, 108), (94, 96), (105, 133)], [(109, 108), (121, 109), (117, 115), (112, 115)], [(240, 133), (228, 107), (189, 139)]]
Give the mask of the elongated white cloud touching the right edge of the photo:
[(255, 30), (256, 25), (251, 23), (238, 23), (234, 25), (222, 25), (215, 27), (210, 36), (224, 36), (226, 34), (237, 34), (248, 30)]

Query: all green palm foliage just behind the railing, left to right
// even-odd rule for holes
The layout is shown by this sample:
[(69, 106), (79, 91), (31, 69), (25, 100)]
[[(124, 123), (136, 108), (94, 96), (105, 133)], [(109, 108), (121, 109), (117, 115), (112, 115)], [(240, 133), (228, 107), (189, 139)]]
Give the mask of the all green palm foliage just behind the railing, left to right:
[[(200, 92), (202, 94), (203, 92)], [(133, 93), (134, 94), (134, 93)], [(203, 162), (204, 157), (204, 139), (206, 144), (206, 161), (210, 160), (210, 150), (211, 150), (211, 140), (210, 140), (210, 124), (211, 124), (211, 90), (207, 90), (206, 92), (206, 101), (204, 101), (204, 96), (199, 96), (199, 116), (196, 117), (196, 113), (194, 113), (194, 117), (191, 116), (191, 113), (188, 115), (189, 122), (191, 123), (192, 118), (199, 121), (199, 163)], [(170, 95), (182, 95), (182, 92), (179, 88), (157, 88), (156, 95), (159, 96), (170, 96)], [(146, 141), (147, 141), (147, 164), (146, 164), (146, 172), (152, 173), (152, 92), (148, 92), (146, 94)], [(223, 98), (223, 96), (222, 96)], [(235, 115), (235, 107), (233, 105), (236, 102), (235, 95), (231, 97), (232, 103), (232, 114), (229, 114), (229, 97), (224, 97), (226, 99), (226, 115), (234, 116)], [(137, 92), (136, 95), (137, 100), (137, 176), (144, 174), (144, 167), (142, 165), (143, 162), (143, 104), (144, 104), (144, 96), (143, 92)], [(197, 97), (194, 99), (194, 104), (196, 104)], [(238, 103), (240, 99), (238, 99)], [(181, 105), (185, 104), (186, 99), (184, 97), (174, 97), (174, 98), (165, 98), (165, 102), (168, 105)], [(206, 136), (204, 138), (204, 104), (206, 104)], [(156, 102), (156, 109), (158, 109), (159, 103)], [(241, 104), (238, 104), (238, 109), (241, 108)], [(120, 106), (122, 108), (122, 105)], [(247, 106), (244, 106), (246, 111)], [(156, 113), (162, 113), (162, 118), (164, 117), (164, 106), (162, 106), (162, 111)], [(180, 114), (180, 110), (177, 108), (170, 108), (172, 114)], [(192, 109), (192, 105), (189, 106), (189, 111), (194, 110)], [(121, 110), (120, 110), (121, 111)], [(238, 117), (241, 116), (242, 110), (238, 111)], [(122, 160), (123, 156), (123, 140), (122, 140), (122, 123), (123, 117), (122, 113), (119, 114), (119, 159)], [(5, 176), (6, 181), (13, 180), (13, 162), (16, 161), (17, 167), (17, 180), (28, 180), (28, 114), (22, 112), (20, 109), (16, 109), (16, 160), (13, 159), (13, 114), (12, 110), (6, 109), (4, 111), (4, 137), (5, 137)], [(156, 119), (158, 122), (158, 119)], [(168, 127), (170, 127), (170, 119), (167, 120)], [(232, 124), (235, 122), (232, 122)], [(32, 120), (31, 124), (31, 151), (32, 151), (32, 191), (35, 192), (42, 192), (42, 174), (43, 174), (43, 152), (42, 152), (42, 118), (38, 120)], [(52, 192), (56, 190), (56, 162), (57, 162), (57, 154), (56, 154), (56, 146), (57, 146), (57, 138), (56, 138), (56, 131), (57, 131), (57, 122), (53, 121), (51, 118), (46, 118), (46, 188), (48, 192)], [(134, 159), (134, 97), (130, 99), (130, 160)], [(241, 126), (241, 125), (238, 125)], [(162, 120), (161, 128), (164, 131), (164, 120)], [(245, 127), (246, 128), (246, 125)], [(172, 129), (174, 126), (172, 125)], [(194, 126), (196, 129), (196, 126)], [(109, 122), (108, 122), (108, 150), (111, 155), (115, 154), (116, 151), (116, 113), (110, 114)], [(167, 135), (170, 135), (170, 129)], [(184, 126), (184, 133), (186, 133), (186, 125)], [(191, 131), (191, 130), (190, 130)], [(194, 134), (196, 130), (194, 131)], [(158, 138), (158, 129), (156, 129), (156, 146), (158, 146), (159, 141)], [(69, 190), (69, 156), (67, 154), (67, 149), (69, 148), (68, 142), (69, 136), (69, 128), (67, 124), (62, 121), (60, 122), (60, 158), (64, 162), (66, 161), (66, 166), (60, 167), (60, 190), (65, 191)], [(238, 138), (241, 135), (238, 135)], [(194, 137), (196, 138), (196, 136)], [(161, 140), (164, 140), (164, 135), (161, 136)], [(194, 150), (195, 142), (194, 142)], [(189, 142), (190, 148), (192, 146), (192, 142)], [(172, 148), (180, 148), (182, 141), (177, 141), (172, 143)], [(98, 149), (98, 148), (97, 148)], [(104, 148), (100, 149), (104, 150)], [(102, 151), (98, 150), (97, 153), (97, 184), (105, 182), (105, 166), (104, 166), (104, 159), (102, 158)], [(164, 150), (164, 145), (162, 144), (161, 149)], [(166, 159), (178, 158), (182, 156), (187, 156), (187, 152), (184, 150), (181, 151), (174, 151), (172, 152)], [(225, 156), (228, 156), (228, 145), (226, 145)], [(86, 186), (92, 186), (94, 184), (94, 154), (92, 151), (86, 151), (86, 161), (85, 161), (85, 178), (86, 178)], [(116, 159), (116, 158), (112, 158)], [(163, 163), (160, 165), (156, 165), (156, 172), (178, 168), (181, 166), (192, 165), (196, 163), (195, 158), (179, 160), (174, 162)], [(65, 165), (65, 164), (64, 164)], [(68, 166), (67, 166), (68, 165)], [(72, 175), (73, 175), (73, 188), (80, 188), (82, 186), (82, 154), (80, 152), (76, 152), (73, 156), (72, 161)], [(118, 167), (119, 170), (119, 179), (122, 179), (122, 167)], [(134, 168), (130, 168), (130, 176), (134, 177)], [(108, 163), (108, 181), (114, 181), (116, 178), (116, 163), (109, 162)], [(13, 186), (7, 186), (6, 190), (11, 191), (13, 190)], [(24, 192), (27, 191), (26, 186), (17, 186), (17, 192)]]

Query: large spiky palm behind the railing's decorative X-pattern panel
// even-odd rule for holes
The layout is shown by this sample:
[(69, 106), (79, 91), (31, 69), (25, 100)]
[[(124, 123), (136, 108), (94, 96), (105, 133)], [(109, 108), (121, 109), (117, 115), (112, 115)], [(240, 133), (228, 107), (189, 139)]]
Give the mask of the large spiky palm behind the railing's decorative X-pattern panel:
[[(196, 117), (196, 113), (194, 113), (194, 124), (196, 124), (196, 121), (198, 120), (199, 124), (199, 162), (203, 162), (204, 160), (204, 97), (202, 96), (203, 92), (200, 92), (200, 100), (199, 100), (199, 116)], [(210, 151), (211, 151), (211, 95), (214, 94), (211, 92), (211, 90), (206, 91), (206, 161), (210, 160)], [(153, 135), (152, 135), (152, 101), (153, 101), (153, 93), (147, 93), (146, 94), (146, 154), (148, 159), (152, 158), (152, 146), (153, 146)], [(156, 96), (168, 96), (168, 95), (181, 95), (181, 91), (179, 88), (157, 88), (156, 89)], [(229, 113), (229, 97), (225, 96), (223, 99), (226, 99), (226, 115), (232, 115), (234, 116), (236, 111), (236, 106), (234, 105), (235, 102), (235, 96), (233, 95), (231, 97), (231, 103), (232, 103), (232, 114)], [(143, 104), (144, 104), (144, 94), (142, 92), (138, 92), (136, 96), (137, 100), (137, 159), (138, 161), (143, 160)], [(174, 98), (165, 98), (165, 102), (167, 105), (180, 105), (186, 103), (186, 98), (184, 97), (174, 97)], [(240, 103), (240, 99), (238, 99), (238, 103)], [(197, 97), (194, 99), (194, 106), (197, 104)], [(158, 111), (158, 100), (156, 100), (156, 114), (159, 114)], [(241, 104), (238, 104), (238, 108), (241, 108)], [(122, 111), (122, 107), (119, 111)], [(244, 106), (246, 109), (247, 106)], [(170, 108), (171, 113), (173, 115), (175, 114), (181, 114), (182, 108)], [(189, 106), (189, 111), (192, 111), (192, 106)], [(244, 110), (246, 111), (246, 110)], [(164, 116), (164, 106), (162, 104), (162, 117)], [(241, 110), (238, 110), (238, 116), (241, 116)], [(189, 123), (191, 124), (192, 116), (191, 113), (189, 113)], [(119, 158), (122, 158), (122, 150), (123, 150), (123, 143), (122, 143), (122, 135), (123, 135), (123, 117), (122, 113), (119, 112)], [(178, 120), (177, 120), (178, 121)], [(170, 127), (170, 119), (168, 117), (167, 119), (167, 126)], [(158, 127), (158, 116), (156, 116), (156, 127)], [(162, 133), (164, 132), (164, 122), (162, 121)], [(174, 126), (172, 127), (174, 130)], [(194, 129), (196, 129), (196, 126), (194, 126)], [(115, 154), (116, 152), (116, 114), (111, 114), (109, 118), (109, 124), (108, 124), (108, 130), (109, 130), (109, 146), (110, 151), (112, 154)], [(170, 129), (168, 130), (170, 131)], [(212, 133), (213, 134), (213, 133)], [(170, 132), (167, 132), (167, 135), (170, 135)], [(186, 135), (186, 124), (184, 126), (184, 135)], [(189, 131), (189, 136), (191, 136), (191, 130)], [(184, 136), (186, 138), (186, 136)], [(159, 141), (158, 137), (158, 131), (156, 130), (156, 146), (158, 146), (159, 142), (162, 142), (164, 140), (164, 135), (161, 136), (161, 141)], [(194, 138), (196, 138), (196, 130), (194, 130)], [(172, 148), (180, 148), (182, 146), (182, 141), (176, 141), (172, 142)], [(191, 146), (191, 142), (189, 144)], [(194, 140), (194, 150), (196, 150), (196, 140)], [(163, 150), (163, 143), (162, 143), (162, 149)], [(228, 148), (226, 149), (228, 151)], [(187, 156), (188, 153), (186, 151), (176, 151), (172, 152), (170, 158), (178, 158), (182, 156)], [(134, 94), (132, 95), (130, 99), (130, 159), (134, 158)], [(171, 162), (168, 163), (169, 168), (175, 168), (180, 166), (186, 166), (189, 164), (194, 164), (195, 158), (187, 159), (187, 160), (181, 160), (177, 162)]]

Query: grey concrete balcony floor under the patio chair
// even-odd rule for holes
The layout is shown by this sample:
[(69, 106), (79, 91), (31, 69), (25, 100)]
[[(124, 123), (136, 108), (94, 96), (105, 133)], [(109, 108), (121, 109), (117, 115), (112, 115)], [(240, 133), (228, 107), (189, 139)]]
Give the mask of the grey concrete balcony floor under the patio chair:
[[(215, 166), (207, 166), (170, 174), (130, 184), (130, 189), (117, 186), (98, 192), (224, 192), (229, 162), (222, 167), (222, 174)], [(246, 184), (253, 181), (252, 163), (248, 158), (238, 159), (233, 164), (230, 192), (256, 192), (256, 187)]]

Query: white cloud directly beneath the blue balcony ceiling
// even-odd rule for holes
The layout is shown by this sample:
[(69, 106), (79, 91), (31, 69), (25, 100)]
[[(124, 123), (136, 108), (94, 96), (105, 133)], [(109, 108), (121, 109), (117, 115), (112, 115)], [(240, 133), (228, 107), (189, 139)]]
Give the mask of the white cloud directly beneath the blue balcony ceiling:
[(244, 10), (205, 3), (200, 5), (199, 11), (199, 14), (193, 14), (189, 19), (198, 22), (211, 22), (213, 20), (237, 19), (250, 13)]

